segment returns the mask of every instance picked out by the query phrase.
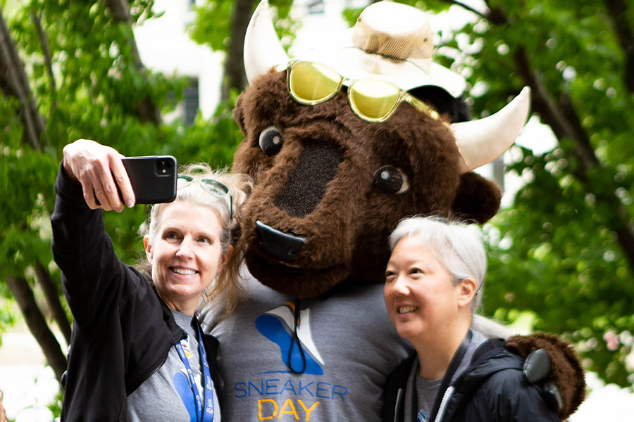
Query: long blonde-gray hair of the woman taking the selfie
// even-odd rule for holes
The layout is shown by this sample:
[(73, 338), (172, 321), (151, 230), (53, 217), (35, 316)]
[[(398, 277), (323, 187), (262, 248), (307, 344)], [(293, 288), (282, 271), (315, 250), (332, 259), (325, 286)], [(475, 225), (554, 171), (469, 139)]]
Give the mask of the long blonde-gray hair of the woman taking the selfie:
[[(242, 212), (244, 211), (244, 203), (246, 203), (251, 193), (251, 180), (245, 174), (232, 174), (226, 169), (212, 170), (211, 167), (204, 163), (192, 163), (183, 166), (179, 175), (192, 177), (192, 183), (182, 188), (178, 188), (176, 193), (176, 202), (184, 202), (192, 205), (211, 208), (218, 215), (220, 223), (220, 248), (222, 254), (229, 252), (230, 246), (233, 246), (232, 255), (227, 265), (220, 271), (213, 283), (203, 292), (205, 302), (211, 299), (223, 296), (225, 300), (225, 314), (230, 314), (237, 306), (242, 287), (240, 286), (240, 264), (242, 263), (243, 249), (240, 243), (240, 222), (242, 221)], [(229, 188), (232, 196), (233, 215), (231, 216), (229, 196), (218, 197), (204, 190), (200, 181), (202, 179), (213, 179), (219, 181)], [(154, 204), (151, 206), (149, 217), (145, 226), (147, 227), (148, 243), (154, 243), (156, 231), (161, 221), (161, 214), (169, 203)], [(151, 279), (151, 266), (149, 262), (144, 262), (141, 266), (142, 271)]]

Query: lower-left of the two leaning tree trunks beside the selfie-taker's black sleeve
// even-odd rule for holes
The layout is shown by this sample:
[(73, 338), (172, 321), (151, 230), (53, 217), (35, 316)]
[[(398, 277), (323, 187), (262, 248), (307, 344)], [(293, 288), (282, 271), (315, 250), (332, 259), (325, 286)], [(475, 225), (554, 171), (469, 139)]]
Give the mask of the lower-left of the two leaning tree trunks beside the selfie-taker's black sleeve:
[(57, 380), (60, 381), (63, 372), (66, 371), (66, 356), (63, 354), (55, 335), (46, 324), (46, 319), (35, 302), (29, 283), (22, 277), (15, 279), (11, 274), (8, 274), (6, 284), (13, 294), (15, 302), (18, 302), (29, 330), (39, 343), (39, 347), (42, 347), (46, 361), (49, 362)]

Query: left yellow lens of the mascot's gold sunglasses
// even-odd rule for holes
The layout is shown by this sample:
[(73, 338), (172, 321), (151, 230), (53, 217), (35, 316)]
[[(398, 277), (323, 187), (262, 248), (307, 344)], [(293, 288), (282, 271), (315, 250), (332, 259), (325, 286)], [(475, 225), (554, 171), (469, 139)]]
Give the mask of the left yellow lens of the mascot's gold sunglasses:
[(295, 63), (289, 75), (289, 88), (298, 101), (319, 103), (337, 94), (341, 76), (319, 63)]

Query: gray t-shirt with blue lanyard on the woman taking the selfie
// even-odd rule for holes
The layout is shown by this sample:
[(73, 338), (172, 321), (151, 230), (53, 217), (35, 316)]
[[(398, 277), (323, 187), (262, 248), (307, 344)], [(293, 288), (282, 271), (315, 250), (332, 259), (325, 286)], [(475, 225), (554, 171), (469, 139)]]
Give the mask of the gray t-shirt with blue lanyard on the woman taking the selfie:
[[(187, 333), (180, 344), (194, 372), (198, 391), (203, 396), (202, 362), (198, 349), (198, 333), (192, 327), (194, 316), (172, 311), (176, 324)], [(213, 386), (212, 386), (213, 390)], [(158, 397), (161, 397), (158, 399)], [(128, 396), (124, 413), (131, 422), (175, 422), (195, 421), (196, 402), (185, 365), (175, 347), (170, 348), (166, 362), (152, 373), (142, 385)], [(220, 422), (220, 404), (216, 393), (213, 394), (213, 422)]]

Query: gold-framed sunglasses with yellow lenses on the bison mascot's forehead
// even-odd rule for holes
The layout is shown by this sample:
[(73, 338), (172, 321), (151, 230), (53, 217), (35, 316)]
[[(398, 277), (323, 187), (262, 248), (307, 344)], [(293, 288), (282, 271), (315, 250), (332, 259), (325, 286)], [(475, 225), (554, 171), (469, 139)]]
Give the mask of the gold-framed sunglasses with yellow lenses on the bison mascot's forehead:
[(439, 118), (435, 110), (392, 82), (347, 79), (326, 65), (308, 60), (289, 60), (286, 71), (290, 96), (305, 106), (330, 100), (346, 84), (350, 108), (367, 122), (385, 122), (402, 101), (434, 119)]

